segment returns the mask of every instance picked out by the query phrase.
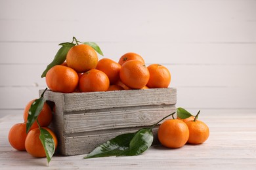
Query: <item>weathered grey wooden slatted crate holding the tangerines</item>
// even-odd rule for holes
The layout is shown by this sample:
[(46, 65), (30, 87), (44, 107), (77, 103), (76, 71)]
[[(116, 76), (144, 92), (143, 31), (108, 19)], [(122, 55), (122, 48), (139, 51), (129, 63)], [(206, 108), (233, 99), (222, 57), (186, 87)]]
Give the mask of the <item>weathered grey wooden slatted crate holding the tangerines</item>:
[[(41, 94), (43, 90), (39, 91)], [(88, 154), (117, 135), (155, 124), (175, 111), (177, 90), (158, 88), (89, 93), (56, 93), (47, 90), (56, 112), (51, 129), (64, 156)], [(154, 144), (157, 140), (157, 127)]]

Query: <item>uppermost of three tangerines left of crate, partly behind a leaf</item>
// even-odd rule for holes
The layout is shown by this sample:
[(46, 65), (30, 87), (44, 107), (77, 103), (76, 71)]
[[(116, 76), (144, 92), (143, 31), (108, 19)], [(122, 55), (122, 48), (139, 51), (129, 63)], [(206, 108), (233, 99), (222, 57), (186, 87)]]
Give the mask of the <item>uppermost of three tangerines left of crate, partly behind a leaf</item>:
[[(35, 99), (30, 101), (24, 109), (23, 118), (24, 118), (25, 123), (28, 120), (28, 110), (30, 110), (30, 107), (34, 101), (35, 101)], [(49, 126), (49, 124), (51, 124), (52, 118), (53, 118), (53, 113), (52, 113), (51, 107), (49, 107), (49, 105), (45, 102), (43, 104), (43, 109), (39, 113), (39, 116), (37, 116), (37, 120), (38, 120), (40, 126), (46, 127), (46, 126)], [(38, 127), (36, 121), (32, 124), (31, 129), (34, 129), (35, 127)]]

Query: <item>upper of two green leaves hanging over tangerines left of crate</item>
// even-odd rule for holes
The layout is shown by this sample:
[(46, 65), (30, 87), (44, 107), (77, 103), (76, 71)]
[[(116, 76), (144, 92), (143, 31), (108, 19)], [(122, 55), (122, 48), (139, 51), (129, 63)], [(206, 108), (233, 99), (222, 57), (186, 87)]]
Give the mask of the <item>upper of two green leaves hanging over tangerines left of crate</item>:
[(26, 123), (26, 132), (30, 131), (30, 127), (33, 125), (35, 120), (37, 120), (37, 116), (39, 116), (41, 110), (43, 109), (43, 105), (45, 104), (45, 99), (43, 97), (40, 97), (39, 99), (36, 99), (31, 107), (30, 110), (28, 110), (28, 120)]

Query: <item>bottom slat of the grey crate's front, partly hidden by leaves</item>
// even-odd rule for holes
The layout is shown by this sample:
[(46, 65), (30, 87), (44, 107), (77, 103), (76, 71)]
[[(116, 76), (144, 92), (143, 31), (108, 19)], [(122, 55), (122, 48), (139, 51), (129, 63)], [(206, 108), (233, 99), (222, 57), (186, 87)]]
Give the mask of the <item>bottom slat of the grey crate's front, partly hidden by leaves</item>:
[[(117, 135), (121, 135), (124, 133), (133, 133), (141, 128), (142, 127), (134, 127), (116, 129), (116, 131), (98, 131), (98, 133), (95, 134), (65, 137), (66, 150), (64, 150), (64, 152), (60, 152), (60, 154), (64, 156), (89, 154), (89, 152), (93, 151), (97, 146), (99, 146), (102, 143), (106, 143), (106, 141), (116, 137)], [(157, 137), (158, 127), (155, 127), (152, 131), (154, 134), (153, 145), (159, 144)]]

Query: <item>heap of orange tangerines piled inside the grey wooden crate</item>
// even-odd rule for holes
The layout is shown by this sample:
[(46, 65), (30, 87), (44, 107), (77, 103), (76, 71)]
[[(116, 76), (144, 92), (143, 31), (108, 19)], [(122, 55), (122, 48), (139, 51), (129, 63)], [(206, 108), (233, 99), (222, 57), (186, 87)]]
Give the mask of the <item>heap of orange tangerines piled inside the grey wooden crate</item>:
[(133, 52), (118, 63), (110, 58), (98, 61), (95, 50), (87, 44), (70, 48), (66, 61), (55, 65), (45, 76), (53, 92), (103, 92), (145, 88), (167, 88), (171, 74), (163, 65), (146, 67), (144, 59)]

